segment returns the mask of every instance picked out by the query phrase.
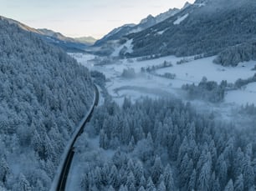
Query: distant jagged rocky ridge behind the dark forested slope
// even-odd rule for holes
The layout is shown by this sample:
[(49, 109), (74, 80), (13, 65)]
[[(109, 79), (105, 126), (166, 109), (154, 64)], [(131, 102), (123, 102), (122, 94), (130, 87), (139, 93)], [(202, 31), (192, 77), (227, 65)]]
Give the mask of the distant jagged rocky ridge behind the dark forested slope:
[(95, 46), (102, 46), (104, 43), (107, 43), (112, 40), (120, 39), (130, 33), (141, 32), (142, 30), (145, 30), (146, 28), (150, 28), (156, 23), (162, 22), (166, 18), (172, 17), (173, 15), (177, 14), (179, 11), (180, 9), (177, 9), (177, 8), (169, 9), (166, 13), (161, 13), (156, 17), (153, 17), (152, 15), (147, 16), (147, 18), (142, 19), (141, 23), (139, 24), (125, 24), (120, 28), (115, 28), (110, 33), (105, 35), (104, 38), (101, 38), (100, 40), (98, 40), (95, 43)]

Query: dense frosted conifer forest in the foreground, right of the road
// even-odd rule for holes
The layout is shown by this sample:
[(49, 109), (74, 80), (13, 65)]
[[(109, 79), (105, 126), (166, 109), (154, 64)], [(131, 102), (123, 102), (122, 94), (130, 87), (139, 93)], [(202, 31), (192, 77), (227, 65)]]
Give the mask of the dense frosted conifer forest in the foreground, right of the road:
[[(255, 111), (254, 106), (241, 108), (254, 121)], [(176, 99), (131, 103), (125, 98), (121, 107), (106, 102), (79, 139), (80, 186), (93, 191), (253, 191), (255, 123), (239, 125), (197, 113), (191, 103)], [(92, 146), (95, 139), (100, 151)]]

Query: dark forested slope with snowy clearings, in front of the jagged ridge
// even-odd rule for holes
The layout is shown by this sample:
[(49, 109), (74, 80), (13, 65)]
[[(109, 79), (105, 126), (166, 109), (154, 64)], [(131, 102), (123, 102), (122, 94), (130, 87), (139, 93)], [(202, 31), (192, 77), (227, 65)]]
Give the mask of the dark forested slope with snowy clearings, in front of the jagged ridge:
[(255, 13), (253, 0), (197, 0), (173, 17), (126, 36), (132, 39), (133, 52), (124, 54), (130, 57), (216, 55), (256, 38)]

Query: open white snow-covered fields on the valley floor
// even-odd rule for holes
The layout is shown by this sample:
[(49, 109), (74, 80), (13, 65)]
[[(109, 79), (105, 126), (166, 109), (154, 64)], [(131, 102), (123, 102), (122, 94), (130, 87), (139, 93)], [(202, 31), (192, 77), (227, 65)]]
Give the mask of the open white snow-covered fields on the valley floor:
[[(110, 95), (118, 102), (122, 103), (125, 96), (133, 100), (141, 96), (151, 98), (166, 96), (182, 96), (182, 85), (199, 83), (203, 77), (209, 81), (220, 83), (227, 80), (228, 83), (234, 83), (238, 78), (246, 79), (252, 77), (255, 71), (252, 68), (255, 62), (239, 63), (238, 67), (223, 67), (213, 63), (215, 57), (193, 60), (185, 58), (189, 62), (177, 64), (184, 58), (168, 56), (164, 58), (151, 59), (146, 61), (137, 61), (133, 59), (123, 59), (117, 64), (108, 64), (105, 66), (94, 66), (88, 60), (95, 58), (94, 55), (72, 54), (79, 63), (84, 66), (97, 70), (105, 74), (109, 82), (106, 84)], [(156, 74), (175, 73), (175, 79), (158, 77), (149, 73), (141, 73), (141, 68), (158, 66), (164, 62), (172, 63), (172, 67), (156, 70)], [(120, 75), (125, 68), (134, 68), (136, 78), (121, 78)], [(255, 103), (256, 104), (256, 85), (249, 84), (247, 88), (228, 92), (225, 103)]]

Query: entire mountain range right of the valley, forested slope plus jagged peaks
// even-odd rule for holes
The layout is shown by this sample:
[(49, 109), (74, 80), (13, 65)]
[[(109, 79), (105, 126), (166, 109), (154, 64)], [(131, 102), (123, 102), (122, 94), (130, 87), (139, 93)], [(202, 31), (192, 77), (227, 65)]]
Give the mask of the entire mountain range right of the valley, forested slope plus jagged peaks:
[[(172, 11), (168, 13), (170, 15)], [(157, 19), (160, 23), (156, 22)], [(150, 23), (148, 26), (156, 24), (146, 29), (138, 27), (146, 23)], [(256, 49), (254, 0), (197, 0), (193, 4), (186, 4), (169, 18), (165, 19), (162, 15), (156, 18), (149, 16), (139, 25), (126, 27), (125, 33), (123, 29), (115, 29), (98, 41), (98, 44), (103, 43), (100, 50), (97, 50), (98, 53), (125, 57), (207, 57), (220, 53), (222, 58), (218, 58), (217, 63), (224, 65), (236, 65), (238, 62), (256, 58), (253, 52)], [(244, 49), (248, 47), (246, 44), (250, 48)], [(230, 58), (223, 58), (228, 55)], [(235, 55), (235, 59), (231, 55)]]

